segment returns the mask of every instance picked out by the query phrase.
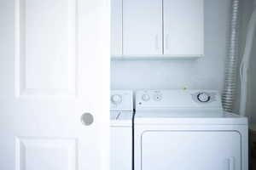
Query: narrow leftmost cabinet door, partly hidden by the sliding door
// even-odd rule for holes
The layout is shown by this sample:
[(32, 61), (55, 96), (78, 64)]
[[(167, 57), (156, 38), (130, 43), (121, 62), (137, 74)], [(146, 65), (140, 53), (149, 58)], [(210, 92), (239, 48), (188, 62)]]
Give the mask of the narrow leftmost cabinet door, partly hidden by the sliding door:
[(121, 55), (122, 52), (122, 0), (111, 1), (111, 54)]

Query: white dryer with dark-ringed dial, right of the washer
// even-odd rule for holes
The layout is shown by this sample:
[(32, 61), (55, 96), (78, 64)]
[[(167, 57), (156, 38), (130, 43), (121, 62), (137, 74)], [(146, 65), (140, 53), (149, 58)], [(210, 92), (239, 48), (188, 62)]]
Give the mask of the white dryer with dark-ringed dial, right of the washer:
[(247, 170), (247, 118), (208, 90), (136, 94), (135, 170)]

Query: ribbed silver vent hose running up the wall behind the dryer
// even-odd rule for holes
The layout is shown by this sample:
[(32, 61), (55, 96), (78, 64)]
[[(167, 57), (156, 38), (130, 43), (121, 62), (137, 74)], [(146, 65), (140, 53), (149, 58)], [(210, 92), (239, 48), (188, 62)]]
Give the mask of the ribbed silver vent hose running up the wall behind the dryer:
[(224, 91), (222, 102), (224, 111), (233, 111), (236, 99), (236, 73), (238, 60), (238, 38), (239, 38), (239, 0), (232, 1), (230, 20), (230, 42), (225, 63)]

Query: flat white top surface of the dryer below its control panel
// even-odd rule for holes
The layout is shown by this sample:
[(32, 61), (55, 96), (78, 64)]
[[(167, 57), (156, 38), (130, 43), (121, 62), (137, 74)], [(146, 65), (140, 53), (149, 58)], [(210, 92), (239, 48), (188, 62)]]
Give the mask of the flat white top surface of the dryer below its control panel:
[[(218, 116), (217, 116), (218, 115)], [(240, 124), (247, 125), (247, 117), (231, 113), (197, 111), (137, 111), (134, 124)]]

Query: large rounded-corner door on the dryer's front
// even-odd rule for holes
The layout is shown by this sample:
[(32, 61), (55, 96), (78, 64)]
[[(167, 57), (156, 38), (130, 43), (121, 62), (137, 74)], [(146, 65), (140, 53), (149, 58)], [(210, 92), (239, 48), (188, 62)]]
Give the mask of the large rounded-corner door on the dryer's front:
[(241, 135), (236, 131), (147, 131), (142, 170), (241, 170)]

